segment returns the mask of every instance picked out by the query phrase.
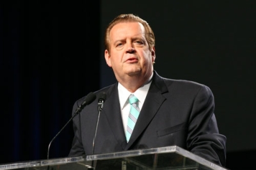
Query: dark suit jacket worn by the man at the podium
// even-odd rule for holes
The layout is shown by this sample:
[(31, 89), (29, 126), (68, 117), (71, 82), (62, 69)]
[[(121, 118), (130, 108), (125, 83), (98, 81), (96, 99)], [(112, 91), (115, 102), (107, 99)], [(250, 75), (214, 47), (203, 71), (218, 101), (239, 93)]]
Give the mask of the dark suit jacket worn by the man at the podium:
[[(69, 156), (180, 146), (211, 162), (225, 165), (226, 137), (219, 134), (211, 89), (196, 82), (165, 79), (155, 71), (129, 143), (125, 140), (117, 83), (96, 91), (107, 98), (98, 119), (96, 99), (74, 117)], [(77, 100), (73, 112), (83, 102)]]

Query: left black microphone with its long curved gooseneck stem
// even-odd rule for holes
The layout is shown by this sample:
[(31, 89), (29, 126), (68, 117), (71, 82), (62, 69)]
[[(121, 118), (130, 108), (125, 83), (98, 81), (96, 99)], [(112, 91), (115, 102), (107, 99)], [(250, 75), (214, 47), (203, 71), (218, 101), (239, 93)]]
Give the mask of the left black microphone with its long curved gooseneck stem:
[(64, 127), (61, 128), (61, 130), (58, 132), (58, 134), (56, 134), (56, 135), (52, 138), (52, 140), (51, 140), (51, 142), (49, 143), (49, 146), (48, 146), (47, 159), (49, 159), (49, 150), (50, 150), (50, 146), (51, 146), (52, 141), (60, 134), (60, 132), (68, 125), (68, 123), (69, 123), (77, 114), (79, 114), (79, 112), (81, 112), (81, 111), (83, 110), (83, 108), (84, 108), (86, 105), (92, 103), (93, 100), (95, 100), (95, 98), (96, 98), (96, 95), (95, 95), (94, 93), (92, 93), (92, 92), (88, 93), (88, 95), (86, 95), (86, 97), (84, 98), (83, 103), (82, 103), (81, 105), (79, 105), (79, 107), (77, 107), (77, 109), (76, 109), (76, 111), (74, 112), (74, 115), (72, 116), (72, 118), (70, 118), (70, 120), (68, 120), (68, 122), (64, 125)]

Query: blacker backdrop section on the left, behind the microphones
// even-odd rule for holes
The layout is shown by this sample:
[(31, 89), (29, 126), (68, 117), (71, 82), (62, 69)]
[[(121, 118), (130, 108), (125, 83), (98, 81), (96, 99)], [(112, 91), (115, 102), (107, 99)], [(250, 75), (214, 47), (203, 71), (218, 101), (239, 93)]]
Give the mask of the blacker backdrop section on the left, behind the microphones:
[[(74, 102), (99, 89), (99, 2), (12, 1), (0, 9), (0, 163), (44, 159)], [(67, 156), (72, 135), (71, 123), (49, 157)]]

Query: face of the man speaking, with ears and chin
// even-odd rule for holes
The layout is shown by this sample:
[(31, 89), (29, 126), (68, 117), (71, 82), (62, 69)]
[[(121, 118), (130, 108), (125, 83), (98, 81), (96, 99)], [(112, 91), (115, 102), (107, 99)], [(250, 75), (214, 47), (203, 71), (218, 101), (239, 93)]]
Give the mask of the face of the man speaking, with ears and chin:
[(108, 66), (113, 68), (116, 79), (124, 76), (150, 76), (155, 60), (154, 47), (150, 50), (145, 38), (145, 28), (139, 22), (116, 24), (110, 31), (110, 51), (105, 50)]

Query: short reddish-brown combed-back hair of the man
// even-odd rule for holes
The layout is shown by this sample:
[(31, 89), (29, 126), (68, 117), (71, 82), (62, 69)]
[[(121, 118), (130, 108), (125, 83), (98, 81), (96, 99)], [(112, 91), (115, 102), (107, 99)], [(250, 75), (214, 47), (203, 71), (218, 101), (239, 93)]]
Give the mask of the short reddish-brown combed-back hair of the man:
[(152, 49), (152, 47), (154, 47), (154, 45), (155, 45), (155, 36), (154, 36), (154, 32), (152, 31), (148, 22), (141, 19), (140, 17), (132, 14), (132, 13), (129, 13), (129, 14), (118, 15), (115, 19), (113, 19), (109, 23), (109, 25), (106, 29), (106, 32), (105, 32), (105, 40), (104, 40), (104, 45), (105, 45), (106, 50), (108, 50), (108, 51), (110, 50), (109, 34), (110, 34), (111, 29), (116, 24), (119, 24), (119, 23), (122, 23), (122, 22), (140, 22), (145, 27), (145, 36), (146, 36), (146, 40), (147, 40), (149, 49)]

